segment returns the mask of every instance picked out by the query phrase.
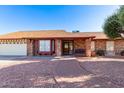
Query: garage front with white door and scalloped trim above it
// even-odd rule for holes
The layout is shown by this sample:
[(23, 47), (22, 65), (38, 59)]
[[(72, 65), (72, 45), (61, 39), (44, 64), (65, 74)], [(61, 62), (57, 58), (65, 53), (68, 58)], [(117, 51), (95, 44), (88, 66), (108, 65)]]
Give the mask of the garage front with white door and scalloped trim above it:
[(0, 40), (0, 56), (27, 56), (26, 40)]

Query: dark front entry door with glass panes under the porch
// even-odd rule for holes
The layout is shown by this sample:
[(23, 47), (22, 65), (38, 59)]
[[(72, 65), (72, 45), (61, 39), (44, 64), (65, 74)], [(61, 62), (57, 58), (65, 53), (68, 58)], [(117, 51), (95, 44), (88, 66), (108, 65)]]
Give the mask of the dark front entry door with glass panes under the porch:
[(63, 55), (72, 55), (73, 54), (73, 41), (64, 40), (63, 41)]

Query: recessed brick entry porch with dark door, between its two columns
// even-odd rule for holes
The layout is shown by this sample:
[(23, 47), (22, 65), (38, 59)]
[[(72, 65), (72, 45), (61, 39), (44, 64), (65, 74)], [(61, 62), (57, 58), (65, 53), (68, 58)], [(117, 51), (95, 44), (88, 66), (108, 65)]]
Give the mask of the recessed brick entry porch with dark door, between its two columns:
[(91, 57), (91, 41), (89, 38), (56, 39), (56, 56), (76, 55)]

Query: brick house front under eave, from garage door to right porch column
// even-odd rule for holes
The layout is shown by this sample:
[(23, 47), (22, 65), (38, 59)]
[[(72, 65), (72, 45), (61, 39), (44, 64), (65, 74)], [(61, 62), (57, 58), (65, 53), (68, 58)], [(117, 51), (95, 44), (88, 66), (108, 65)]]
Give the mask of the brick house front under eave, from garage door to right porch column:
[(47, 38), (27, 40), (28, 56), (65, 56), (75, 55), (76, 50), (84, 51), (82, 56), (91, 56), (91, 41), (93, 37)]

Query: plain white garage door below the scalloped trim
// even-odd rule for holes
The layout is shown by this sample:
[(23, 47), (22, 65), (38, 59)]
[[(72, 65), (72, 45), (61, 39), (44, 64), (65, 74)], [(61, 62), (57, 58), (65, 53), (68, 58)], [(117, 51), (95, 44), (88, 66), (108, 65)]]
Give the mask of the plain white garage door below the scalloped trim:
[(1, 56), (26, 56), (27, 44), (0, 44)]

